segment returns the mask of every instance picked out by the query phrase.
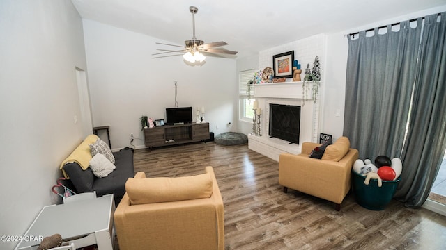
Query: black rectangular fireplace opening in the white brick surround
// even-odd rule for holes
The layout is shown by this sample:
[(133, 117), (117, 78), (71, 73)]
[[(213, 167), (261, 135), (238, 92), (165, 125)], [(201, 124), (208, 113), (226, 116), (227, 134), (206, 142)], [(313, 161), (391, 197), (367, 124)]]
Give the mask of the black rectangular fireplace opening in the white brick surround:
[(299, 144), (300, 106), (270, 103), (268, 135)]

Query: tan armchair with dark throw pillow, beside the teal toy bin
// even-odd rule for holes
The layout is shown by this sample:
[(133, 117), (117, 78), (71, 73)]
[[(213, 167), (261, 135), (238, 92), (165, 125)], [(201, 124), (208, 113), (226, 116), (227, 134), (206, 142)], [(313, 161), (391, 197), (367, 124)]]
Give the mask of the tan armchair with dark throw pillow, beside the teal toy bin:
[(351, 188), (351, 169), (358, 151), (350, 148), (348, 138), (339, 138), (325, 149), (322, 159), (309, 158), (309, 153), (321, 144), (304, 142), (299, 155), (281, 153), (279, 156), (279, 184), (336, 203), (341, 203)]

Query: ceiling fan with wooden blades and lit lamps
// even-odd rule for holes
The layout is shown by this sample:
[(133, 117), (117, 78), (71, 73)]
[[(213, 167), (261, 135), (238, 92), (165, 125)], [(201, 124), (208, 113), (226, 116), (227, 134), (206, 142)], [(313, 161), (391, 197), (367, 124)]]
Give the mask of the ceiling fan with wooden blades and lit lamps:
[(227, 49), (219, 48), (224, 45), (228, 45), (226, 42), (210, 42), (208, 44), (205, 44), (202, 40), (198, 40), (195, 37), (195, 14), (198, 12), (198, 8), (195, 6), (190, 6), (189, 11), (192, 13), (192, 26), (193, 26), (193, 35), (191, 40), (185, 40), (185, 46), (175, 45), (175, 44), (164, 44), (160, 42), (156, 42), (156, 44), (162, 44), (167, 46), (174, 46), (174, 47), (182, 47), (183, 49), (180, 50), (170, 50), (170, 49), (157, 49), (158, 51), (164, 51), (160, 53), (154, 53), (152, 56), (156, 56), (154, 58), (162, 58), (167, 56), (178, 56), (176, 55), (166, 55), (166, 56), (158, 56), (158, 55), (164, 55), (167, 53), (184, 53), (183, 58), (187, 60), (190, 63), (195, 62), (203, 62), (203, 60), (206, 59), (206, 56), (203, 55), (203, 53), (206, 54), (213, 54), (213, 53), (222, 53), (222, 54), (229, 54), (229, 55), (236, 55), (237, 51), (230, 51)]

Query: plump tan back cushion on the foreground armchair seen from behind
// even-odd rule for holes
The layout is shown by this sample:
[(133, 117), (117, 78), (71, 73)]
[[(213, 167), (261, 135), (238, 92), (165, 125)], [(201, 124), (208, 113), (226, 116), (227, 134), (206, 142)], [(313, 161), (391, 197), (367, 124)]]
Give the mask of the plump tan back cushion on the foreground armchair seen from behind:
[(131, 205), (209, 198), (212, 189), (210, 174), (174, 178), (128, 178), (125, 182), (125, 192)]

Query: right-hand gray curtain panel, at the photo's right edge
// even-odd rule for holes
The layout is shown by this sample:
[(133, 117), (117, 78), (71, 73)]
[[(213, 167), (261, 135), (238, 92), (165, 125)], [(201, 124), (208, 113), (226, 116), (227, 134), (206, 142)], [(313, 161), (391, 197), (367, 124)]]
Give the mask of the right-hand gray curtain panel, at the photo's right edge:
[[(440, 22), (437, 20), (440, 19)], [(429, 196), (446, 148), (446, 12), (424, 19), (403, 172), (395, 195), (408, 207)]]

